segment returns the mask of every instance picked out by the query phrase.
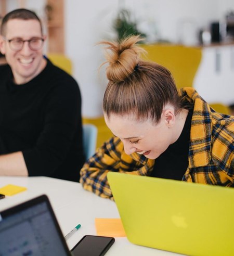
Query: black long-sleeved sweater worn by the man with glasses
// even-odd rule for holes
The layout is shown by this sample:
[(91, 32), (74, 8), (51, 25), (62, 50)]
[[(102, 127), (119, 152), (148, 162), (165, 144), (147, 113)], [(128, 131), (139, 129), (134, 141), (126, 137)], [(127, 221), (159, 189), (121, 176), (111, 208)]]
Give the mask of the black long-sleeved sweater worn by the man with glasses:
[(79, 181), (84, 163), (81, 93), (68, 73), (49, 60), (25, 84), (0, 66), (0, 155), (22, 151), (29, 176)]

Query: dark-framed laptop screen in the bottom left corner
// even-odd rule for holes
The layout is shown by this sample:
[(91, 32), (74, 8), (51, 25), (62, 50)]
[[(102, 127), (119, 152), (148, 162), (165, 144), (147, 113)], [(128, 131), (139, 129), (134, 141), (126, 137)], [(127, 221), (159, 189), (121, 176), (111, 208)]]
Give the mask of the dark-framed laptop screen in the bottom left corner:
[(71, 255), (45, 195), (0, 212), (0, 255)]

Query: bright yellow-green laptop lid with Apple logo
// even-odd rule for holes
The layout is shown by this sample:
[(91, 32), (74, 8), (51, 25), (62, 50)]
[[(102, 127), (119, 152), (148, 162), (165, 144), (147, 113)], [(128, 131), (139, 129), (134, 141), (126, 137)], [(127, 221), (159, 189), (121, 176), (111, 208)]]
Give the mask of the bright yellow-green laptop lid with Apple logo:
[(234, 188), (109, 172), (128, 240), (187, 255), (234, 255)]

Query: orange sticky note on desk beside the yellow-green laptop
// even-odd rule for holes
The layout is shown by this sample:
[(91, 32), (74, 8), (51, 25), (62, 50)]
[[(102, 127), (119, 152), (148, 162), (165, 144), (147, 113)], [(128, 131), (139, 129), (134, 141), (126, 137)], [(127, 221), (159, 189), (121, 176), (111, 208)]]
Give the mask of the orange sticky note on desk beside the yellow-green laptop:
[(123, 237), (126, 236), (121, 219), (95, 219), (98, 236)]

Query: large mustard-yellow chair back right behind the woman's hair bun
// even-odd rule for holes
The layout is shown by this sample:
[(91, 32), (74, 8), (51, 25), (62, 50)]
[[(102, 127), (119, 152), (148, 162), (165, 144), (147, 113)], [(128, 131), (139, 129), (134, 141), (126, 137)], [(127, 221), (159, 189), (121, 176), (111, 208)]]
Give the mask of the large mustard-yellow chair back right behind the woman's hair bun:
[(173, 44), (142, 45), (148, 54), (146, 60), (152, 60), (171, 71), (176, 86), (192, 87), (194, 76), (200, 65), (202, 50)]

